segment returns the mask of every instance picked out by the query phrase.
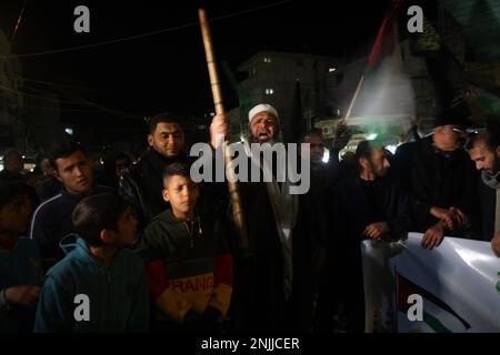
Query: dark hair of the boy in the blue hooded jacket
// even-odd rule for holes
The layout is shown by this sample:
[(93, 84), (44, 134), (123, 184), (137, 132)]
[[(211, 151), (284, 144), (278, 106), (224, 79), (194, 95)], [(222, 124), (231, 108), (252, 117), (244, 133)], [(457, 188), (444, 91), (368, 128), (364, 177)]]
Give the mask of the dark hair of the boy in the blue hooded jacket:
[(91, 246), (102, 246), (103, 230), (118, 230), (118, 221), (130, 207), (122, 197), (112, 193), (101, 193), (81, 200), (73, 211), (74, 232)]

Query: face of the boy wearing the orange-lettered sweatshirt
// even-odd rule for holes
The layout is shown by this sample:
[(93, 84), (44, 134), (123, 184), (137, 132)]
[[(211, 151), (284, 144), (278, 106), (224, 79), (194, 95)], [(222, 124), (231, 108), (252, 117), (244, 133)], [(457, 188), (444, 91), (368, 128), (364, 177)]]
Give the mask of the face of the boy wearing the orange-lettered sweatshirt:
[(170, 202), (176, 216), (192, 213), (198, 196), (198, 185), (191, 179), (181, 175), (166, 179), (163, 200)]

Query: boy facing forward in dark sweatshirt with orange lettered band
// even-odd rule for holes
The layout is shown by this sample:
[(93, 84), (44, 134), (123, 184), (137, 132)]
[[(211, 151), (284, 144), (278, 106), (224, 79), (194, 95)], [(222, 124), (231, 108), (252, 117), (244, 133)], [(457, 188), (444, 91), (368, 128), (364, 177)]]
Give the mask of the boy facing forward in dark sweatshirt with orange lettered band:
[(171, 210), (146, 227), (139, 253), (147, 261), (148, 285), (158, 331), (217, 331), (232, 292), (232, 258), (221, 224), (203, 207), (189, 166), (163, 171), (163, 199)]

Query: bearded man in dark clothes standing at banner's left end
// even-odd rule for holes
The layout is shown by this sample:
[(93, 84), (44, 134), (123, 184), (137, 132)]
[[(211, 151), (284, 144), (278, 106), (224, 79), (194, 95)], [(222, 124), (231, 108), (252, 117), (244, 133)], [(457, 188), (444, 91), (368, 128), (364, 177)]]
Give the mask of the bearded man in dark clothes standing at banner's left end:
[(323, 331), (332, 326), (336, 303), (346, 307), (348, 332), (364, 331), (360, 242), (402, 239), (411, 225), (408, 197), (399, 183), (386, 178), (390, 164), (383, 144), (362, 141), (356, 158), (358, 176), (340, 182), (333, 192), (327, 282), (319, 301)]

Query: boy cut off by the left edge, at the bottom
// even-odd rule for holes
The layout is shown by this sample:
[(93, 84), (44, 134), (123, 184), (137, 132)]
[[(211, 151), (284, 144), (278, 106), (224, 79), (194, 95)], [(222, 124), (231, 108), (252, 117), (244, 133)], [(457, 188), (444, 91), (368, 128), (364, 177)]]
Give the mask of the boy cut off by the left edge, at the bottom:
[(34, 241), (20, 236), (33, 212), (29, 189), (0, 182), (0, 333), (33, 328), (42, 271)]

